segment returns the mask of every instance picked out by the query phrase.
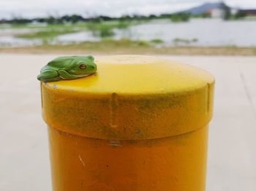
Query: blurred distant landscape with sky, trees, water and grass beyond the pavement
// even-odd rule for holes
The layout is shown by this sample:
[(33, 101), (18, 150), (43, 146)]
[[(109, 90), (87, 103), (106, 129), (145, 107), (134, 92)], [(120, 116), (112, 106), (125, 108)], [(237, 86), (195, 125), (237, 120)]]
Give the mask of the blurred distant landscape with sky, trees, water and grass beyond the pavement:
[(254, 0), (0, 2), (0, 51), (255, 55), (255, 34)]

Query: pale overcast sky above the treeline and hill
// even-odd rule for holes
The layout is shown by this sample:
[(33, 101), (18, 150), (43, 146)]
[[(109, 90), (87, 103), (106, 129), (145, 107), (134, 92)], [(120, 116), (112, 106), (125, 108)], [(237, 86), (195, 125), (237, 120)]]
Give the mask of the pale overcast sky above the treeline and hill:
[[(159, 14), (216, 0), (0, 0), (0, 18), (80, 14), (83, 16)], [(256, 0), (226, 0), (232, 7), (256, 8)]]

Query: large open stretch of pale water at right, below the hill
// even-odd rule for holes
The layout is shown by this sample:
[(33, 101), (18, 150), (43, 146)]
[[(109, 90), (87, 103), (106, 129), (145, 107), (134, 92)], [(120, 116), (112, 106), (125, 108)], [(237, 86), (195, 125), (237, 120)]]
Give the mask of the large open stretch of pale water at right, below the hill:
[[(256, 46), (256, 20), (225, 21), (194, 19), (188, 23), (159, 20), (130, 28), (132, 39), (162, 39), (174, 45), (173, 39), (197, 39), (195, 46)], [(185, 43), (186, 44), (186, 43)]]

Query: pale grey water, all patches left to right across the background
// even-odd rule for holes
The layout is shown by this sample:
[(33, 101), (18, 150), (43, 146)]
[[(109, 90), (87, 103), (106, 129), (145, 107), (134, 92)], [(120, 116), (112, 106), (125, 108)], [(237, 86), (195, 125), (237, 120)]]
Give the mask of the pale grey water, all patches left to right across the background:
[[(113, 39), (146, 40), (161, 39), (163, 46), (236, 46), (256, 47), (256, 20), (192, 19), (187, 23), (172, 23), (170, 20), (152, 20), (147, 23), (130, 26), (126, 29), (114, 29)], [(74, 43), (99, 41), (91, 31), (57, 36), (53, 43)], [(39, 44), (38, 41), (1, 36), (0, 44), (8, 46)]]

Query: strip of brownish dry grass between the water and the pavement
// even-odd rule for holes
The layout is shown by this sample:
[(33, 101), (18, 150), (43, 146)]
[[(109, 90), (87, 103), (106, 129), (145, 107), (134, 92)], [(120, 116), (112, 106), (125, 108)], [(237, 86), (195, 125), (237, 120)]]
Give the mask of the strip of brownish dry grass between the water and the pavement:
[[(90, 47), (91, 45), (91, 47)], [(154, 55), (256, 55), (256, 47), (148, 47), (124, 44), (45, 45), (38, 47), (0, 48), (0, 53), (33, 54), (154, 54)]]

